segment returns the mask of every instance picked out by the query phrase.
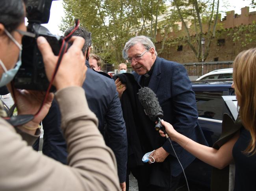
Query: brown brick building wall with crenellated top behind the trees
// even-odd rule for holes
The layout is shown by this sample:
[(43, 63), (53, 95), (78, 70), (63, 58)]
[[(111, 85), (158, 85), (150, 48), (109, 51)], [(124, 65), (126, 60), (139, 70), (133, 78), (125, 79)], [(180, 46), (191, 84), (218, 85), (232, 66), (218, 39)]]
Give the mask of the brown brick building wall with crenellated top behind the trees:
[[(219, 16), (220, 18), (220, 16)], [(239, 36), (240, 40), (234, 42), (233, 34), (236, 32), (237, 27), (240, 25), (249, 25), (256, 22), (256, 11), (249, 12), (249, 7), (244, 7), (241, 9), (241, 15), (235, 14), (234, 11), (229, 11), (226, 16), (221, 20), (217, 21), (217, 31), (215, 38), (211, 42), (211, 47), (209, 50), (208, 58), (205, 60), (206, 63), (204, 67), (204, 74), (208, 73), (214, 69), (221, 69), (232, 67), (232, 60), (236, 55), (246, 49), (256, 47), (256, 42), (251, 42), (246, 46), (242, 46), (241, 42), (245, 40), (245, 34)], [(203, 31), (206, 33), (207, 26), (203, 26)], [(232, 29), (232, 30), (225, 30)], [(195, 38), (195, 31), (189, 29), (192, 38)], [(177, 37), (184, 36), (185, 27), (182, 26), (181, 30), (173, 31), (168, 33), (167, 40), (165, 42), (164, 51), (159, 54), (167, 60), (173, 60), (184, 64), (187, 68), (189, 75), (199, 76), (201, 75), (201, 63), (198, 63), (196, 56), (193, 51), (189, 48), (186, 43), (180, 43), (176, 45), (170, 45), (168, 41), (171, 41)], [(163, 36), (161, 36), (160, 31), (156, 38), (156, 49), (161, 49), (161, 43)], [(225, 61), (225, 62), (223, 62)]]

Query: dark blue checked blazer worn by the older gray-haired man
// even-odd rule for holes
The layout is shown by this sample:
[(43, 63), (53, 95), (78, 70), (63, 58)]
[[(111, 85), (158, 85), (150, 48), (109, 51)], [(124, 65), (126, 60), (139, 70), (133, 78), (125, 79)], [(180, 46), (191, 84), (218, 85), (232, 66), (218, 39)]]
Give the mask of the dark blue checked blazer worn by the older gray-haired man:
[[(137, 82), (140, 82), (141, 76), (135, 72), (133, 74)], [(207, 145), (197, 122), (195, 93), (192, 91), (192, 83), (183, 65), (157, 57), (148, 87), (158, 97), (163, 110), (163, 120), (172, 124), (179, 133), (200, 144)], [(185, 169), (195, 159), (195, 156), (175, 142), (173, 142), (173, 147)], [(178, 176), (182, 173), (182, 168), (174, 155), (171, 144), (166, 141), (163, 148), (173, 156), (166, 159), (171, 160), (171, 175)]]

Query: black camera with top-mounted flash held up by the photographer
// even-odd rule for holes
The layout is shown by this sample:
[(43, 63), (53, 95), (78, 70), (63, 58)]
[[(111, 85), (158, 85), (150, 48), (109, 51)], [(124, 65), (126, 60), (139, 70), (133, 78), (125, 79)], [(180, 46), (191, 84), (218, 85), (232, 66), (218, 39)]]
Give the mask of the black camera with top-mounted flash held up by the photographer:
[[(18, 89), (46, 91), (49, 81), (45, 73), (45, 66), (41, 52), (37, 47), (37, 37), (44, 36), (54, 55), (59, 54), (63, 37), (52, 35), (41, 24), (48, 23), (52, 0), (27, 0), (26, 12), (28, 18), (27, 31), (35, 37), (23, 36), (22, 38), (22, 65), (14, 78), (14, 86)], [(52, 86), (50, 91), (54, 91)]]

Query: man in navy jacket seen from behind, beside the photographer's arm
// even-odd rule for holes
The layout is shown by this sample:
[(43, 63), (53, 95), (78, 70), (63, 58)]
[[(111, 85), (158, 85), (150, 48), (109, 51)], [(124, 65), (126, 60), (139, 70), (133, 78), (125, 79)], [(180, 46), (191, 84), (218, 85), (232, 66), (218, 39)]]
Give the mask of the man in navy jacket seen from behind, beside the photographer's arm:
[[(70, 27), (66, 32), (67, 36), (74, 27)], [(85, 39), (82, 51), (87, 60), (91, 49), (91, 34), (83, 27), (78, 27), (74, 31), (75, 36), (81, 36)], [(86, 60), (86, 66), (89, 68), (89, 62)], [(115, 88), (113, 79), (108, 78), (92, 69), (86, 72), (82, 87), (86, 93), (88, 106), (98, 118), (98, 129), (102, 135), (106, 134), (109, 147), (114, 151), (117, 159), (117, 168), (120, 186), (124, 191), (126, 188), (126, 163), (127, 163), (127, 136), (124, 119), (122, 116), (121, 103)], [(66, 163), (67, 151), (65, 140), (59, 129), (60, 118), (58, 105), (53, 102), (49, 114), (43, 120), (44, 143), (43, 153), (60, 162)], [(106, 129), (104, 129), (106, 122)]]

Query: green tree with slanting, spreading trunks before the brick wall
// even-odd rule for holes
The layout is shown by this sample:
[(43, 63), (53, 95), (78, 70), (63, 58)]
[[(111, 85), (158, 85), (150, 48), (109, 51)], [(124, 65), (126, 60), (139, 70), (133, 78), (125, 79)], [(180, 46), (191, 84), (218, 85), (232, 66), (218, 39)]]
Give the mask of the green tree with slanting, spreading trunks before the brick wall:
[[(206, 60), (216, 32), (219, 0), (173, 0), (173, 5), (186, 30), (184, 42), (189, 45), (199, 62)], [(191, 32), (195, 32), (195, 38), (191, 38)], [(204, 55), (202, 55), (202, 38), (205, 38), (206, 42)], [(178, 40), (180, 41), (180, 38)]]

